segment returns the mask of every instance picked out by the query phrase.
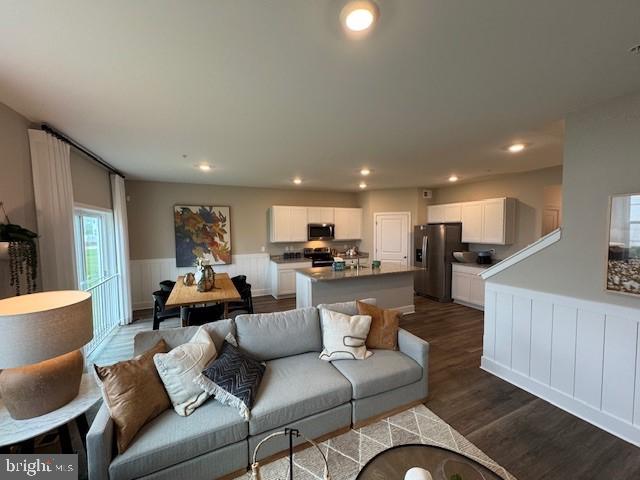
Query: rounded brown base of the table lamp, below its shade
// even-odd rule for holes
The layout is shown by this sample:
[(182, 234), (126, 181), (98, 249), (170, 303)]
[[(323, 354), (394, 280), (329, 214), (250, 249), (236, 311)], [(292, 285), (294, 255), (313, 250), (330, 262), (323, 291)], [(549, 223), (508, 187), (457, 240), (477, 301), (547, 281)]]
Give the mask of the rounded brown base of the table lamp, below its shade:
[(0, 395), (14, 420), (39, 417), (76, 398), (84, 357), (80, 350), (0, 373)]

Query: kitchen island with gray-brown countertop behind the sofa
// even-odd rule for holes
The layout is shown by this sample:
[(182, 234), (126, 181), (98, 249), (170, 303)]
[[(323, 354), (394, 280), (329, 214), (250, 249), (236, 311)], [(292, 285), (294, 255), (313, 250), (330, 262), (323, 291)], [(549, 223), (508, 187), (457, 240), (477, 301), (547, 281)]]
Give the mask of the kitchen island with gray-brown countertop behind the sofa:
[(296, 308), (320, 303), (376, 298), (382, 308), (413, 313), (413, 275), (416, 268), (382, 265), (336, 272), (331, 267), (296, 270)]

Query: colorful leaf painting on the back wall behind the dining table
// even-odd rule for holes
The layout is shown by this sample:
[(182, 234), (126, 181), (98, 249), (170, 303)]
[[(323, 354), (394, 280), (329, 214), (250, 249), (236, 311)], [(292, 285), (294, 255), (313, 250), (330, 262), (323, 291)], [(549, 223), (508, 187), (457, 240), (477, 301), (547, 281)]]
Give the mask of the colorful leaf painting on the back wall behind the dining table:
[(231, 263), (229, 207), (176, 205), (176, 266), (193, 267), (202, 259), (211, 265)]

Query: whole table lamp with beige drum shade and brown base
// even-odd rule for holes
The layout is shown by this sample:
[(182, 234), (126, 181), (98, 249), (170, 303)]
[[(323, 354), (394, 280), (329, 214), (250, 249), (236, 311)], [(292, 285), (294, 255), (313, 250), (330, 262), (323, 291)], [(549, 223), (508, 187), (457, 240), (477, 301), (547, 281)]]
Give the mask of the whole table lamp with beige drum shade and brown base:
[(0, 300), (0, 395), (12, 418), (52, 412), (78, 395), (93, 338), (91, 294), (75, 290)]

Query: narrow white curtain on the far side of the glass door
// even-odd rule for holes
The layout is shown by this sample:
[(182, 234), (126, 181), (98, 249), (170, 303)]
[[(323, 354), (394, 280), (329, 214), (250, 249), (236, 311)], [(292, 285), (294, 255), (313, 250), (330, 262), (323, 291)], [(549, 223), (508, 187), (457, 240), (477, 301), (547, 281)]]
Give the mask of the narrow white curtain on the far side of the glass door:
[(111, 175), (111, 198), (113, 199), (113, 222), (116, 237), (116, 258), (120, 273), (120, 298), (123, 317), (120, 323), (133, 321), (131, 308), (131, 273), (129, 272), (129, 230), (127, 227), (127, 196), (124, 178)]

